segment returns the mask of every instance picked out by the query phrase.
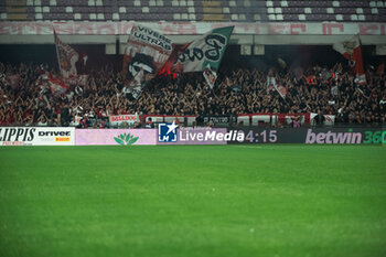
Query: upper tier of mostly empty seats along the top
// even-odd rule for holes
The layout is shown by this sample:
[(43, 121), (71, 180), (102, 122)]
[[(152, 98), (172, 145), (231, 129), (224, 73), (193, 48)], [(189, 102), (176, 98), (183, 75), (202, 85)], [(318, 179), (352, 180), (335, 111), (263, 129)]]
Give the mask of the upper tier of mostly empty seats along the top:
[(385, 22), (386, 1), (7, 0), (3, 21)]

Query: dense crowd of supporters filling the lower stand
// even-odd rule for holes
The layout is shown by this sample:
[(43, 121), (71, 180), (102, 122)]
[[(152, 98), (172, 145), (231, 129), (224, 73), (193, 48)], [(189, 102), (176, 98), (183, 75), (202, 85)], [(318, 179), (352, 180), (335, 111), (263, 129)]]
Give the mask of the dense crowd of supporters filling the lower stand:
[[(45, 67), (46, 72), (56, 74)], [(76, 120), (121, 114), (215, 116), (268, 113), (335, 115), (335, 122), (377, 126), (386, 120), (386, 82), (383, 73), (368, 68), (367, 85), (341, 64), (333, 67), (268, 71), (239, 68), (218, 74), (211, 89), (202, 74), (159, 75), (135, 99), (120, 73), (110, 66), (89, 71), (85, 86), (73, 85), (55, 94), (42, 83), (37, 64), (6, 65), (0, 71), (1, 126), (60, 126), (61, 110), (68, 108)], [(10, 79), (17, 75), (17, 79)], [(275, 78), (275, 85), (267, 79)], [(268, 83), (269, 84), (269, 83)], [(280, 95), (277, 88), (287, 88)]]

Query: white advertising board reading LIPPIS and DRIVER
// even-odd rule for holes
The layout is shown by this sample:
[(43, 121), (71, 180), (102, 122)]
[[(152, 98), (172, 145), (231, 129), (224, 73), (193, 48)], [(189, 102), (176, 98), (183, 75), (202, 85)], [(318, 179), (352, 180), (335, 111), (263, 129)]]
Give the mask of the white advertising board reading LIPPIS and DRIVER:
[(0, 146), (74, 146), (75, 128), (0, 127)]

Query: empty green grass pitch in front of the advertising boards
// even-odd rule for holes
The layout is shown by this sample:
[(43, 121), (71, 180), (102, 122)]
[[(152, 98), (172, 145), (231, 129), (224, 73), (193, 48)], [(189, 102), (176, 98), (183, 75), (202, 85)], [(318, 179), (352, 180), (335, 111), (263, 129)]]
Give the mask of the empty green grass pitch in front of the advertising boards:
[(0, 256), (386, 256), (386, 147), (2, 147)]

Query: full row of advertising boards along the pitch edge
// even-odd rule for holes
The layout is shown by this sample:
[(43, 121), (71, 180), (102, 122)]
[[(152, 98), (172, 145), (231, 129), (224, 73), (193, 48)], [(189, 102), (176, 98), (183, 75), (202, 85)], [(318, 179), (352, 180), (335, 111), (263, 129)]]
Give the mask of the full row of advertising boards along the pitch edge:
[(75, 129), (62, 127), (0, 127), (0, 146), (131, 146), (131, 144), (386, 143), (383, 128), (179, 128)]

